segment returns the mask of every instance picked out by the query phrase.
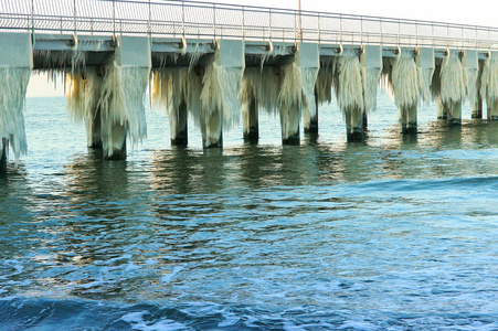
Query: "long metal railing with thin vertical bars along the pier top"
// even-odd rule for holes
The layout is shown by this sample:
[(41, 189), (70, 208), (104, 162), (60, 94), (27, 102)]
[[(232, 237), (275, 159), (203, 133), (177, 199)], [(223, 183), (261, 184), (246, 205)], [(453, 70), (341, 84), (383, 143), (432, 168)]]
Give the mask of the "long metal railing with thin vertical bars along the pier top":
[(0, 0), (0, 30), (498, 50), (498, 29), (178, 0)]

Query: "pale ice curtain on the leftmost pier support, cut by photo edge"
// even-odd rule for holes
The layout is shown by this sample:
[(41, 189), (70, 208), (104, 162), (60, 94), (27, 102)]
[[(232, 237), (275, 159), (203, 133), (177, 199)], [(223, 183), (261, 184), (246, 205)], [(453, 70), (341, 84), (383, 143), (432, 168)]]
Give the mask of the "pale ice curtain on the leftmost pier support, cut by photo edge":
[(0, 137), (9, 139), (15, 159), (28, 150), (24, 98), (31, 68), (0, 66)]

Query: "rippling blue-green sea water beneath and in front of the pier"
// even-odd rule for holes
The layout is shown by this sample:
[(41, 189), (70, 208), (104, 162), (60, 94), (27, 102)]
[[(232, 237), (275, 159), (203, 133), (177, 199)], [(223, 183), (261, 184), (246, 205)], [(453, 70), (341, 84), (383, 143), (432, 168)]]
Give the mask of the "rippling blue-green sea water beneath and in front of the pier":
[(299, 147), (261, 114), (257, 146), (236, 127), (204, 151), (147, 110), (147, 140), (104, 161), (63, 97), (28, 98), (0, 330), (498, 330), (498, 122), (463, 113), (421, 106), (403, 137), (380, 92), (364, 143), (333, 102)]

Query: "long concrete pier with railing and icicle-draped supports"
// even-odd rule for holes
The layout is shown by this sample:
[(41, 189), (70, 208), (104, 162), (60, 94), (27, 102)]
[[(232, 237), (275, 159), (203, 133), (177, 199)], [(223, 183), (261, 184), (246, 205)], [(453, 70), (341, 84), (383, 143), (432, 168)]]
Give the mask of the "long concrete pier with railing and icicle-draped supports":
[(144, 99), (169, 114), (171, 145), (188, 145), (188, 120), (203, 148), (243, 122), (257, 143), (258, 113), (279, 116), (282, 142), (299, 126), (318, 135), (319, 106), (336, 94), (348, 141), (362, 141), (378, 88), (393, 96), (403, 135), (417, 106), (436, 118), (498, 119), (498, 29), (194, 1), (1, 0), (0, 171), (9, 148), (25, 153), (23, 100), (33, 71), (62, 75), (71, 117), (87, 145), (126, 158), (146, 138)]

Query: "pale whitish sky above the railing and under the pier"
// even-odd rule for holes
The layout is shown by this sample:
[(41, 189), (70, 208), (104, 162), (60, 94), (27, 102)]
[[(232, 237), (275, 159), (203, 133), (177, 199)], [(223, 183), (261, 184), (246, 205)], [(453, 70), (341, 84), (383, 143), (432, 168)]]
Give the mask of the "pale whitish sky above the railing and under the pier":
[[(199, 1), (199, 0), (198, 0)], [(203, 1), (202, 2), (213, 2)], [(222, 3), (297, 9), (298, 0), (223, 0)], [(498, 28), (498, 2), (489, 0), (439, 1), (439, 0), (301, 0), (301, 9), (358, 15), (374, 15)], [(28, 96), (63, 95), (63, 84), (46, 82), (46, 76), (33, 75)]]

